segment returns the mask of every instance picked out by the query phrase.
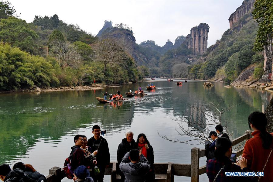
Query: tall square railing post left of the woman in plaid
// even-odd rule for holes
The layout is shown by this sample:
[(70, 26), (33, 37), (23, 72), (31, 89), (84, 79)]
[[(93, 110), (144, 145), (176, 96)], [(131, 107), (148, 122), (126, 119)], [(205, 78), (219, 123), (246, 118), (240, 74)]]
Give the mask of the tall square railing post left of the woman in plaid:
[(191, 151), (191, 182), (199, 181), (199, 148), (192, 148)]

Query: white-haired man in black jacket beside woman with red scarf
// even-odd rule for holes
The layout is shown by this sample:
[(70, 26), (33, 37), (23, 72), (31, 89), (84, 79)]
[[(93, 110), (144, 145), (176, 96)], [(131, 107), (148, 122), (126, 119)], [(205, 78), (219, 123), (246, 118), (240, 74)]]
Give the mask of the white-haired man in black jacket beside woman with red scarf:
[(121, 140), (121, 143), (118, 145), (118, 173), (121, 175), (121, 182), (124, 182), (124, 174), (119, 169), (119, 164), (122, 158), (127, 152), (130, 152), (131, 149), (138, 149), (138, 145), (133, 139), (134, 133), (131, 130), (128, 130), (125, 133), (126, 138)]

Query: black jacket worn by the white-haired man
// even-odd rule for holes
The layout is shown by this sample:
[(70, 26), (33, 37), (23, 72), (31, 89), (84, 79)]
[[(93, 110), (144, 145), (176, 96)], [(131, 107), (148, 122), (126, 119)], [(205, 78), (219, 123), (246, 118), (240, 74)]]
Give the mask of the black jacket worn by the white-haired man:
[(135, 142), (134, 139), (132, 139), (132, 142), (131, 142), (131, 145), (129, 142), (127, 142), (127, 139), (124, 138), (121, 140), (121, 143), (118, 145), (118, 157), (117, 157), (117, 160), (118, 160), (118, 166), (122, 160), (122, 158), (124, 157), (124, 155), (127, 153), (127, 152), (130, 152), (131, 149), (138, 149), (138, 145), (137, 143)]

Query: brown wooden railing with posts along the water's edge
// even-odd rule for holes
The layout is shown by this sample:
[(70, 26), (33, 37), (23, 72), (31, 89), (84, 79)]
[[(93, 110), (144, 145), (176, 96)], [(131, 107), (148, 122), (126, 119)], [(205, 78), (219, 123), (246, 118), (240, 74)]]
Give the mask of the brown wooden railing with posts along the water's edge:
[[(232, 146), (235, 146), (244, 140), (251, 138), (251, 131), (234, 140)], [(242, 155), (243, 148), (237, 151), (237, 156)], [(191, 164), (176, 164), (176, 163), (154, 163), (155, 182), (173, 182), (174, 176), (191, 177), (191, 182), (198, 182), (199, 175), (206, 173), (206, 166), (199, 166), (199, 159), (205, 156), (205, 149), (192, 148)], [(105, 170), (105, 175), (111, 175), (111, 182), (120, 181), (121, 177), (117, 173), (117, 162), (111, 162), (109, 168)], [(49, 170), (49, 175), (46, 176), (47, 182), (61, 182), (66, 177), (63, 168), (53, 167)]]

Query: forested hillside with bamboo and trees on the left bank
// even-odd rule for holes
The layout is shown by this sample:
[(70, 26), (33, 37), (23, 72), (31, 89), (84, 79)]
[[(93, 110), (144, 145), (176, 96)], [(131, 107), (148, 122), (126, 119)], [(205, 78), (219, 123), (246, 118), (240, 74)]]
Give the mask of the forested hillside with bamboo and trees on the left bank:
[(0, 90), (88, 85), (94, 80), (121, 84), (148, 74), (145, 67), (138, 70), (114, 39), (98, 39), (56, 14), (36, 15), (26, 23), (15, 12), (0, 0)]

